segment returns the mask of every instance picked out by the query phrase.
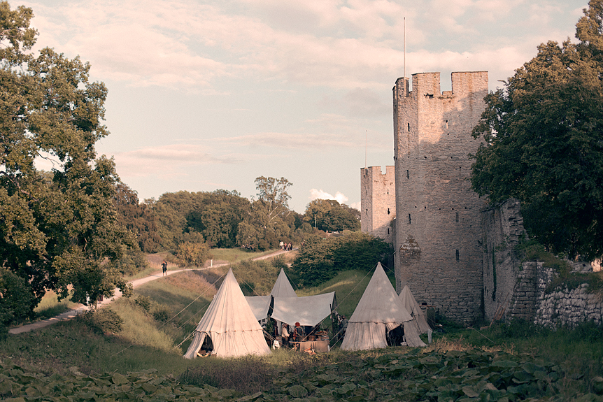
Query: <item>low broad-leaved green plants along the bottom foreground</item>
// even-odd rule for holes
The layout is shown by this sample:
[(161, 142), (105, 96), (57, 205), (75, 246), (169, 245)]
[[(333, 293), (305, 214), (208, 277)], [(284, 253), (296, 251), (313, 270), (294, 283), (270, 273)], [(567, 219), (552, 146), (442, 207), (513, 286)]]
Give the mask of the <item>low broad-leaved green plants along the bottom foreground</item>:
[[(68, 373), (47, 375), (5, 359), (0, 396), (6, 401), (565, 401), (576, 396), (567, 389), (575, 378), (562, 366), (534, 364), (527, 354), (397, 347), (373, 356), (363, 352), (337, 358), (329, 361), (323, 355), (306, 359), (301, 368), (297, 361), (264, 370), (264, 380), (273, 378), (272, 384), (264, 381), (267, 389), (247, 395), (207, 384), (229, 379), (239, 387), (256, 385), (244, 381), (250, 380), (251, 371), (241, 371), (241, 359), (208, 358), (211, 362), (182, 375), (182, 382), (152, 370), (85, 375), (71, 367)], [(246, 360), (248, 367), (266, 367), (260, 358)], [(218, 369), (212, 371), (212, 366)], [(229, 371), (228, 366), (239, 370)], [(257, 376), (257, 370), (253, 373)], [(578, 400), (603, 401), (603, 378), (593, 378), (590, 391)]]

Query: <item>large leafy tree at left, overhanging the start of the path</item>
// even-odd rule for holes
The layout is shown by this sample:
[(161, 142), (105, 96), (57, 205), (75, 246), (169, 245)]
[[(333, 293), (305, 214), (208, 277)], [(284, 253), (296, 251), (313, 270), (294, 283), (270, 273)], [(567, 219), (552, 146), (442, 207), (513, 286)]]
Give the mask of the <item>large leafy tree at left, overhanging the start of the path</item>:
[(29, 312), (47, 289), (66, 296), (73, 285), (82, 303), (127, 291), (115, 261), (132, 242), (113, 206), (115, 164), (94, 150), (108, 134), (106, 87), (78, 57), (30, 52), (32, 15), (0, 3), (0, 310), (21, 292)]

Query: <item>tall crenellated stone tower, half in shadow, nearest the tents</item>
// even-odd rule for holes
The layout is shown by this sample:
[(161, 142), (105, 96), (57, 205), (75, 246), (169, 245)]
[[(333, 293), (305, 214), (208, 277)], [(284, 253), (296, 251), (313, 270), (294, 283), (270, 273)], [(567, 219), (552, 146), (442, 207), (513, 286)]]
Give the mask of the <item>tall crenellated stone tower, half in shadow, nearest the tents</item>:
[(452, 73), (440, 92), (439, 73), (399, 78), (393, 89), (397, 291), (409, 285), (419, 303), (453, 320), (482, 317), (481, 210), (471, 190), (471, 136), (485, 108), (488, 73)]

